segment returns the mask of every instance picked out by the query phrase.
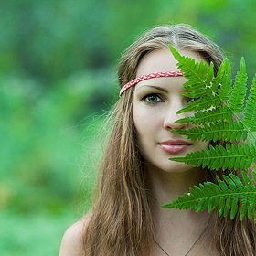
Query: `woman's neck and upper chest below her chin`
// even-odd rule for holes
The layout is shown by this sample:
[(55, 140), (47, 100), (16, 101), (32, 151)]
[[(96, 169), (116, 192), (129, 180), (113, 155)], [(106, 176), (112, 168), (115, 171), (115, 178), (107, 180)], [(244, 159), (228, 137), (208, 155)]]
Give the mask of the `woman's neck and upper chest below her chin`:
[(211, 225), (207, 210), (197, 213), (176, 208), (161, 208), (162, 205), (189, 192), (189, 187), (205, 182), (207, 171), (199, 168), (191, 168), (180, 173), (168, 173), (154, 168), (147, 168), (146, 171), (152, 197), (152, 214), (155, 219), (155, 241), (156, 245), (159, 243), (161, 246), (156, 246), (153, 255), (160, 253), (164, 255), (162, 247), (170, 255), (187, 255), (186, 253), (196, 245), (197, 247), (191, 253), (189, 252), (189, 255), (198, 255), (200, 250), (206, 253), (199, 255), (217, 255), (211, 252), (209, 254), (208, 248), (214, 249), (214, 247), (210, 247), (211, 243), (205, 246), (205, 240), (202, 237), (208, 237), (208, 224)]

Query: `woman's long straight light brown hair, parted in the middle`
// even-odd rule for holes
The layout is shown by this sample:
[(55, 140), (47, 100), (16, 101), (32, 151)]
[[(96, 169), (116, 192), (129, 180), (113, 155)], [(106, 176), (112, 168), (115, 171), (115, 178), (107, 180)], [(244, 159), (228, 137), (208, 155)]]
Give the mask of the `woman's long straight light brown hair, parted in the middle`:
[[(119, 66), (119, 84), (135, 78), (144, 55), (155, 49), (175, 48), (198, 52), (213, 62), (215, 73), (224, 56), (219, 47), (195, 29), (185, 26), (155, 27), (127, 48)], [(133, 123), (133, 90), (123, 92), (110, 117), (112, 129), (106, 145), (99, 177), (99, 196), (84, 231), (85, 255), (149, 255), (155, 237), (142, 156)], [(217, 144), (226, 144), (218, 142)], [(223, 172), (219, 172), (221, 175)], [(226, 172), (227, 173), (227, 172)], [(208, 170), (210, 180), (214, 173)], [(255, 255), (253, 223), (246, 219), (217, 219), (216, 244), (220, 255)]]

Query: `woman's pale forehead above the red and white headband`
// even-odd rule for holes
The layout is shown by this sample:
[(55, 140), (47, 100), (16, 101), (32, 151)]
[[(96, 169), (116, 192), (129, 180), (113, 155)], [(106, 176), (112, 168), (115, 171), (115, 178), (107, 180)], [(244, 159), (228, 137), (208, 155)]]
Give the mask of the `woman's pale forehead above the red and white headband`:
[[(179, 51), (181, 55), (201, 61), (203, 58), (195, 51)], [(205, 59), (203, 59), (205, 60)], [(206, 61), (206, 60), (205, 60)], [(207, 61), (206, 61), (207, 62)], [(136, 77), (149, 73), (161, 71), (177, 71), (176, 59), (173, 57), (169, 49), (156, 49), (141, 59), (138, 66)]]

